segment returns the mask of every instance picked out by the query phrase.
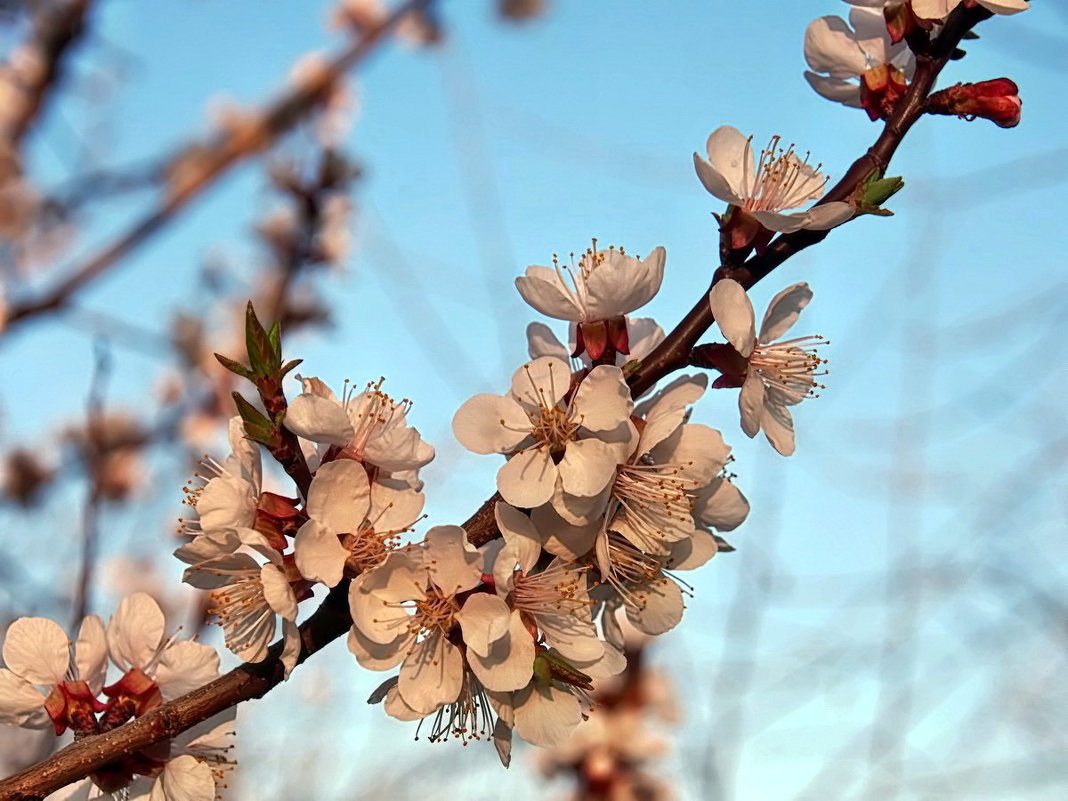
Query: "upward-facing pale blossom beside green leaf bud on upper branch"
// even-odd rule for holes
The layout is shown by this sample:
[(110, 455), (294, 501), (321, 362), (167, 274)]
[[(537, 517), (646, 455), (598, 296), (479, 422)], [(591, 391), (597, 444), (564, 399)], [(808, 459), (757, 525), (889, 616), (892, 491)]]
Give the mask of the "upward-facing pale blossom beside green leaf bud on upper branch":
[[(772, 137), (755, 159), (753, 138), (724, 125), (708, 137), (708, 158), (693, 154), (697, 177), (711, 194), (740, 208), (769, 231), (788, 233), (800, 229), (822, 231), (848, 220), (853, 209), (835, 201), (807, 211), (783, 214), (823, 195), (827, 177), (819, 167), (801, 159), (794, 146), (783, 150)], [(735, 246), (737, 247), (737, 246)]]

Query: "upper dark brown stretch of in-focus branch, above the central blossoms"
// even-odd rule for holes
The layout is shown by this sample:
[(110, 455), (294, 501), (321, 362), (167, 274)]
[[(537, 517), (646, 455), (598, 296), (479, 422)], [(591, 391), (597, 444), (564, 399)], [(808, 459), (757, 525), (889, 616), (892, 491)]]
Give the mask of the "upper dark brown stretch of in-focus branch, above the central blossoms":
[[(930, 51), (916, 57), (916, 72), (912, 83), (886, 121), (875, 144), (852, 163), (842, 179), (816, 205), (847, 200), (874, 170), (881, 173), (886, 169), (905, 135), (923, 116), (934, 80), (949, 61), (957, 45), (968, 31), (991, 16), (993, 16), (991, 12), (981, 6), (975, 9), (968, 9), (963, 4), (957, 6), (946, 19), (942, 33), (931, 43)], [(711, 285), (724, 278), (732, 278), (749, 289), (790, 256), (822, 241), (829, 233), (830, 231), (801, 230), (792, 234), (783, 234), (772, 241), (763, 254), (752, 256), (740, 267), (720, 265)], [(706, 289), (697, 298), (693, 309), (631, 375), (629, 379), (631, 392), (637, 396), (670, 373), (685, 368), (689, 364), (693, 346), (714, 321)]]

